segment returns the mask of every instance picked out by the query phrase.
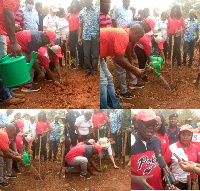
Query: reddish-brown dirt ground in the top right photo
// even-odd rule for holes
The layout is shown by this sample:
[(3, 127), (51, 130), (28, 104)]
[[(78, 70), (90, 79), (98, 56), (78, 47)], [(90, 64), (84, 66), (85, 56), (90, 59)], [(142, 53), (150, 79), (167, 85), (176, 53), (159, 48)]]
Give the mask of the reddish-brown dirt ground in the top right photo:
[[(197, 109), (200, 103), (200, 85), (199, 89), (195, 88), (195, 82), (199, 72), (199, 53), (195, 50), (195, 56), (193, 60), (192, 68), (186, 66), (181, 66), (181, 69), (177, 69), (177, 65), (172, 69), (171, 75), (171, 62), (167, 60), (169, 66), (163, 66), (162, 70), (158, 70), (162, 76), (166, 79), (170, 85), (171, 90), (168, 90), (164, 82), (157, 77), (154, 71), (147, 71), (147, 77), (149, 82), (144, 83), (141, 79), (138, 83), (144, 84), (144, 88), (135, 89), (128, 91), (133, 93), (135, 97), (133, 99), (121, 99), (123, 103), (130, 103), (129, 108), (135, 109)], [(115, 72), (114, 65), (111, 59), (108, 59), (108, 68), (113, 74), (114, 85), (116, 90), (116, 95), (120, 96), (117, 76)], [(138, 67), (138, 65), (136, 65)], [(127, 75), (128, 76), (128, 75)], [(172, 81), (171, 81), (172, 77)], [(129, 87), (129, 80), (127, 77), (127, 87)]]

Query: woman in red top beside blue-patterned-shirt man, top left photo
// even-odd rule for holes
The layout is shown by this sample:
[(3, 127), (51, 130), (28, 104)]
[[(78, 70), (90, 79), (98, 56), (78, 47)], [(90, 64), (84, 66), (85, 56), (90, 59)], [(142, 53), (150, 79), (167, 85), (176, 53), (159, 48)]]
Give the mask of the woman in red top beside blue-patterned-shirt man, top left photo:
[[(84, 55), (83, 55), (83, 46), (78, 44), (78, 29), (79, 29), (79, 12), (81, 10), (81, 6), (79, 1), (73, 0), (71, 6), (69, 7), (69, 15), (66, 17), (69, 22), (69, 50), (71, 59), (75, 59), (77, 61), (77, 51), (78, 50), (78, 60), (79, 67), (78, 71), (83, 69), (84, 67)], [(72, 68), (75, 68), (74, 62), (71, 65)]]

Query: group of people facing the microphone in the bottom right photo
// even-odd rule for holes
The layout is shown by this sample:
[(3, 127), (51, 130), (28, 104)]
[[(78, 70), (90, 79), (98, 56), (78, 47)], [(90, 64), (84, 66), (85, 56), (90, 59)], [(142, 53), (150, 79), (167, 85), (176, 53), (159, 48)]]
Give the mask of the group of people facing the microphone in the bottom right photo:
[[(191, 190), (195, 174), (200, 175), (200, 141), (193, 139), (200, 132), (200, 123), (195, 128), (192, 119), (186, 119), (180, 125), (178, 114), (173, 113), (169, 115), (168, 125), (161, 113), (152, 110), (140, 110), (132, 122), (131, 189), (162, 190), (168, 189), (171, 183), (173, 189)], [(170, 179), (169, 183), (166, 177), (163, 179), (166, 174), (162, 168), (167, 173), (171, 171), (174, 181)]]

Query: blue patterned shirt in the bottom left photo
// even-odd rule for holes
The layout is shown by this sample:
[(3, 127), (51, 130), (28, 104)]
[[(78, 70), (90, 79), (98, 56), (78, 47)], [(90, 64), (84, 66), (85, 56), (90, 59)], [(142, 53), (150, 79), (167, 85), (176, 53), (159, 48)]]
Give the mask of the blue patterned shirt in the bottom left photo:
[(61, 133), (63, 132), (63, 124), (58, 122), (51, 123), (51, 133), (49, 136), (50, 141), (58, 141), (60, 139)]

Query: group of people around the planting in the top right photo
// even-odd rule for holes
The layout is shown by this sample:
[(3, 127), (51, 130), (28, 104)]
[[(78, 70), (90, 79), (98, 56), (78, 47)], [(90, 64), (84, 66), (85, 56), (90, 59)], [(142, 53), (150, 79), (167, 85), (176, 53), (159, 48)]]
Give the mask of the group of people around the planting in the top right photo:
[[(189, 17), (183, 18), (181, 9), (175, 5), (170, 11), (162, 12), (157, 7), (150, 16), (149, 8), (138, 10), (130, 7), (130, 0), (123, 0), (123, 5), (116, 7), (112, 17), (109, 15), (111, 0), (101, 0), (100, 4), (100, 107), (102, 109), (123, 108), (115, 94), (113, 77), (106, 57), (111, 56), (115, 66), (120, 89), (119, 97), (132, 99), (134, 94), (128, 90), (126, 73), (129, 77), (129, 89), (143, 88), (148, 82), (146, 65), (152, 65), (151, 56), (160, 55), (163, 63), (171, 58), (177, 69), (187, 64), (192, 67), (195, 44), (199, 43), (199, 24), (197, 10), (191, 9)], [(173, 40), (172, 40), (173, 39)], [(181, 62), (181, 40), (183, 62)], [(173, 43), (173, 48), (172, 48)], [(200, 44), (199, 44), (200, 46)], [(173, 53), (171, 51), (173, 50)], [(139, 68), (134, 65), (138, 63)], [(138, 78), (142, 83), (138, 83)]]

